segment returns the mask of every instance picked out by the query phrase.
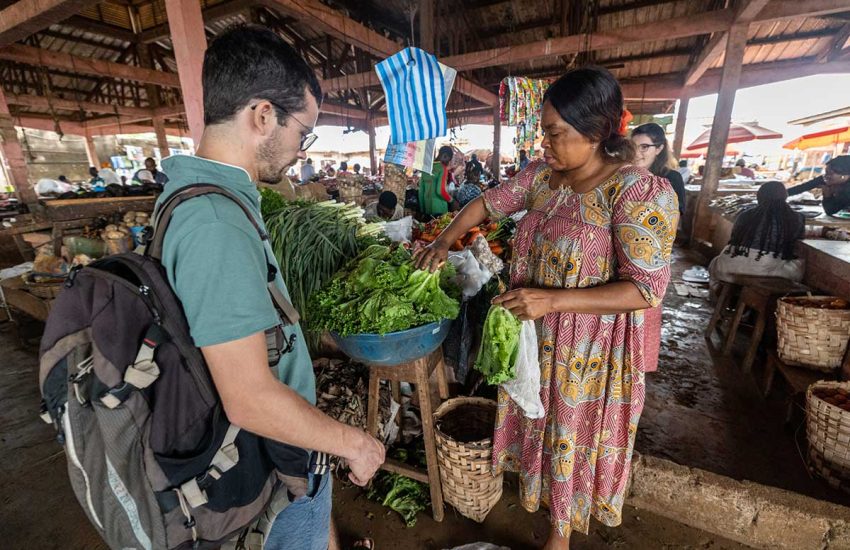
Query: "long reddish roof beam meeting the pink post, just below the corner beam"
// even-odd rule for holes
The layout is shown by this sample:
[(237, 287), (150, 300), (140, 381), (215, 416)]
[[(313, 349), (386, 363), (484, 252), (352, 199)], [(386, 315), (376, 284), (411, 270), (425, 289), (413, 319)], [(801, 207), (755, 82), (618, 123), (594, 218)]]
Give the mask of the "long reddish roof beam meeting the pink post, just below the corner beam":
[(64, 69), (82, 74), (132, 80), (144, 84), (157, 84), (171, 88), (180, 87), (180, 79), (176, 74), (154, 71), (152, 69), (142, 69), (141, 67), (122, 65), (110, 61), (77, 57), (61, 52), (50, 52), (21, 44), (0, 49), (0, 60)]

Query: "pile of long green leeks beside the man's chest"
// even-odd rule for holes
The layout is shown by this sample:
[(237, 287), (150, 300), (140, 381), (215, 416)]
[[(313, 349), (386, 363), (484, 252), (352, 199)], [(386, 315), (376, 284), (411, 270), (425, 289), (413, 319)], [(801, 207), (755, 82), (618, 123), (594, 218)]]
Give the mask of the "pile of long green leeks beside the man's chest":
[(306, 319), (310, 294), (356, 257), (363, 240), (380, 234), (382, 225), (365, 223), (363, 209), (353, 204), (287, 201), (270, 193), (277, 197), (263, 194), (263, 219), (292, 304)]

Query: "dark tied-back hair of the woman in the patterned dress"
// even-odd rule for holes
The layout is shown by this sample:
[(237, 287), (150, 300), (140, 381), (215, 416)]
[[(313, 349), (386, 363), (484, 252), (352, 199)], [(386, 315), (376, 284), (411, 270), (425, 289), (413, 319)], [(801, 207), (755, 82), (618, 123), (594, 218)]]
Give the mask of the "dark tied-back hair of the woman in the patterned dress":
[(634, 144), (620, 134), (623, 91), (608, 70), (590, 66), (569, 71), (549, 86), (543, 101), (584, 137), (598, 142), (610, 162), (634, 159)]

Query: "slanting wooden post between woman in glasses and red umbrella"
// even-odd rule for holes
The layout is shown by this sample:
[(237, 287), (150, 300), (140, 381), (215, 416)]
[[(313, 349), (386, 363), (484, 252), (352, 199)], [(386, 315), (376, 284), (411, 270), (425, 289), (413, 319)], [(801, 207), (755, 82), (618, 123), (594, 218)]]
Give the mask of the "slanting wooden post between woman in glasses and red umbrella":
[(717, 107), (715, 107), (714, 121), (711, 124), (711, 137), (702, 178), (702, 189), (700, 189), (699, 202), (695, 211), (692, 239), (711, 237), (709, 235), (711, 212), (709, 212), (708, 203), (717, 191), (720, 172), (723, 169), (726, 140), (729, 138), (729, 127), (732, 123), (732, 108), (735, 106), (735, 93), (738, 91), (741, 80), (741, 65), (744, 61), (744, 50), (747, 47), (748, 27), (747, 23), (739, 23), (729, 29), (726, 57), (720, 77), (720, 93), (717, 94)]

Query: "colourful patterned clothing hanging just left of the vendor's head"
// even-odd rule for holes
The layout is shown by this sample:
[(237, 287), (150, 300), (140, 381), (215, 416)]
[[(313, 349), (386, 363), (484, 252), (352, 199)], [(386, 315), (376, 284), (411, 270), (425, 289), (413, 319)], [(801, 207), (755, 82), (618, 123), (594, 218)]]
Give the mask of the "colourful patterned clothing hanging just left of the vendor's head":
[(534, 149), (540, 136), (540, 113), (548, 80), (508, 76), (499, 85), (499, 109), (502, 122), (516, 126), (514, 143), (519, 151)]

